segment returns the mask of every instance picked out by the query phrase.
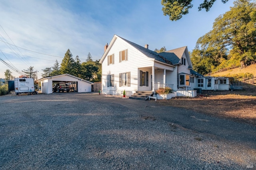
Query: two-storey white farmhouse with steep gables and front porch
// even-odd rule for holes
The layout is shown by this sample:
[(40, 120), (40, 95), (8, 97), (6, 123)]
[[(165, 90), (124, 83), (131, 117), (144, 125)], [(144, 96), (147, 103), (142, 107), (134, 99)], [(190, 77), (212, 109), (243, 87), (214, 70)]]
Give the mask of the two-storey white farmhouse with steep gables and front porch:
[[(125, 90), (126, 95), (132, 96), (142, 91), (152, 93), (168, 86), (178, 96), (190, 96), (186, 92), (206, 87), (206, 79), (198, 79), (203, 76), (192, 70), (187, 47), (156, 53), (148, 49), (148, 45), (142, 47), (114, 35), (109, 45), (105, 45), (100, 63), (102, 89), (109, 90), (110, 94), (114, 91), (121, 94)], [(211, 87), (214, 90), (214, 84)]]

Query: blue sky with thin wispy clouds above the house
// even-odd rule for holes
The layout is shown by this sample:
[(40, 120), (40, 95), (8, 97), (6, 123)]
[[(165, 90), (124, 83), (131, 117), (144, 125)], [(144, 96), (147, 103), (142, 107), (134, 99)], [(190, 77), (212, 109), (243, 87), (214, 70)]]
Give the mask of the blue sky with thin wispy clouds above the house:
[[(148, 44), (153, 51), (164, 46), (188, 46), (192, 51), (234, 2), (217, 0), (209, 12), (198, 12), (202, 1), (193, 0), (189, 14), (170, 21), (161, 0), (1, 0), (0, 59), (20, 71), (34, 66), (41, 78), (42, 69), (52, 67), (56, 59), (61, 63), (68, 49), (82, 62), (89, 52), (99, 60), (114, 34), (143, 47)], [(20, 75), (0, 62), (0, 78), (6, 69)]]

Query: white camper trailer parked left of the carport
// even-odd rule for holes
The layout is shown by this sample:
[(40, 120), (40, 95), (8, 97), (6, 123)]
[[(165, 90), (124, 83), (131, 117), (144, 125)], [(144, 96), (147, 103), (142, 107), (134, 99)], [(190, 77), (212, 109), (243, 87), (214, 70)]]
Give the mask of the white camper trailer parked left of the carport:
[(34, 88), (34, 78), (14, 78), (14, 88), (17, 95), (22, 93), (37, 94)]

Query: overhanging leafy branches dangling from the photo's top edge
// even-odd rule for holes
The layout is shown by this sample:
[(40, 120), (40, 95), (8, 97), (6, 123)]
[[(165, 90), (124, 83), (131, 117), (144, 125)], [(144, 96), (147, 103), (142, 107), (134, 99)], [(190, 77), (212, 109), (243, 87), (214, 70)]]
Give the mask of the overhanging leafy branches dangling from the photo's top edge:
[[(208, 12), (216, 0), (204, 0), (202, 4), (199, 5), (198, 10), (203, 8)], [(191, 4), (192, 0), (162, 0), (161, 4), (164, 6), (162, 11), (164, 16), (168, 15), (171, 21), (177, 21), (182, 18), (182, 15), (188, 14), (188, 10), (193, 7)], [(228, 2), (228, 0), (222, 0), (223, 3)]]

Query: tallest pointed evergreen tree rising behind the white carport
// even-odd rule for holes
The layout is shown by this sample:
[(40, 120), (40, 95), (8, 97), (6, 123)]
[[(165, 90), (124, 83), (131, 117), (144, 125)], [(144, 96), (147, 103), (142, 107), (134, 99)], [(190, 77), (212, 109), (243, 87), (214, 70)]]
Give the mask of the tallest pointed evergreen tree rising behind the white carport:
[(74, 74), (74, 59), (72, 58), (72, 53), (68, 49), (65, 53), (64, 58), (62, 59), (62, 63), (60, 64), (60, 74)]

